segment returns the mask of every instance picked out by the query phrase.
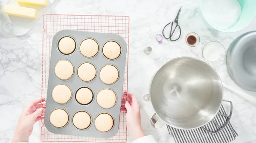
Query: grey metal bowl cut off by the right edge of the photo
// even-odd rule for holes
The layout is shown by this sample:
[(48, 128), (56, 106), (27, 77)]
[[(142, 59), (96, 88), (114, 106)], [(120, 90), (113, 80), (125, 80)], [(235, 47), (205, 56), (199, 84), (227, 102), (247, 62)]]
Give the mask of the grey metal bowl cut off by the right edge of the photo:
[(256, 91), (256, 31), (242, 34), (231, 43), (227, 71), (238, 86)]

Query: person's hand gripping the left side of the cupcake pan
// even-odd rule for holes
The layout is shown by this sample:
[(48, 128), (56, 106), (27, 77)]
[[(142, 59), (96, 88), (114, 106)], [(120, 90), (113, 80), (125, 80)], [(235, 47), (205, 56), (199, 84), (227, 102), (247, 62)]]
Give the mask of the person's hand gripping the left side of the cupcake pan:
[(35, 122), (42, 119), (41, 113), (43, 108), (41, 108), (41, 102), (44, 102), (44, 100), (38, 99), (25, 107), (20, 115), (12, 143), (29, 142), (29, 136), (33, 131)]

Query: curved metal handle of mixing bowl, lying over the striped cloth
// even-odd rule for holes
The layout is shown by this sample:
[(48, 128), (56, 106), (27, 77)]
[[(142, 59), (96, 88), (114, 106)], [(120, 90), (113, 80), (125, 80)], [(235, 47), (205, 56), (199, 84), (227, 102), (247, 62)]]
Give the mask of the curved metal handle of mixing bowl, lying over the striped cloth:
[(213, 121), (213, 123), (217, 126), (217, 129), (218, 129), (218, 130), (215, 131), (215, 132), (212, 132), (212, 131), (210, 131), (210, 130), (204, 128), (204, 127), (202, 127), (205, 131), (210, 132), (210, 133), (212, 133), (212, 134), (215, 134), (215, 133), (217, 133), (217, 132), (220, 132), (222, 129), (224, 129), (224, 128), (227, 126), (227, 124), (229, 123), (230, 118), (231, 118), (231, 116), (232, 116), (232, 112), (233, 112), (233, 104), (232, 104), (231, 101), (227, 101), (227, 100), (223, 100), (223, 101), (230, 103), (230, 114), (229, 114), (229, 115), (225, 115), (225, 114), (221, 114), (221, 113), (218, 112), (218, 115), (222, 115), (222, 116), (224, 116), (224, 117), (227, 117), (227, 121), (226, 121), (226, 122), (224, 123), (224, 125), (221, 127), (221, 126), (218, 125), (218, 123), (215, 122), (215, 118), (213, 118), (212, 121)]

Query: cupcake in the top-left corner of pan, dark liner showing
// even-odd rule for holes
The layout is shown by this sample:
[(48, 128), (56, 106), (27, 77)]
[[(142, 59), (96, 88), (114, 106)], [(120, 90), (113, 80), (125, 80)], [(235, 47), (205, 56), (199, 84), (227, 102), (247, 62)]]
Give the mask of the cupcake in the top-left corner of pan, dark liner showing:
[(76, 49), (76, 42), (71, 37), (63, 37), (58, 43), (58, 49), (63, 54), (73, 53)]

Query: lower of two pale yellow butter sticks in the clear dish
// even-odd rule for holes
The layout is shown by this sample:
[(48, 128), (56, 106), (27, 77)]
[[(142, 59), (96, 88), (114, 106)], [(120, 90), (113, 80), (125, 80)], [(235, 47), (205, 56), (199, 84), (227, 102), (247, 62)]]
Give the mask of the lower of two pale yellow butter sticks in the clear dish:
[(3, 12), (8, 15), (14, 15), (17, 17), (28, 17), (33, 19), (37, 19), (38, 17), (38, 11), (34, 8), (4, 5)]

